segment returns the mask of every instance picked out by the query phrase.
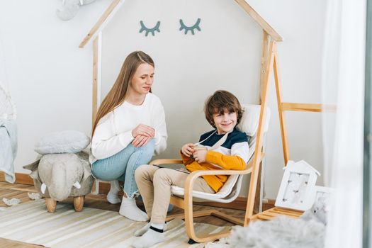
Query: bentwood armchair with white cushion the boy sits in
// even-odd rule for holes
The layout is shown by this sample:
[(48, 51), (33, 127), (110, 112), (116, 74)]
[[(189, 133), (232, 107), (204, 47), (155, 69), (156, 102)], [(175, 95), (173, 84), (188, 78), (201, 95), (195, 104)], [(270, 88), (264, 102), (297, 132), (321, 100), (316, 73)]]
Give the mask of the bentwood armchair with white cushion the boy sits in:
[[(184, 215), (171, 215), (168, 216), (167, 220), (176, 217), (184, 217), (186, 232), (190, 239), (193, 239), (195, 242), (208, 242), (210, 240), (218, 239), (220, 237), (226, 237), (229, 235), (230, 231), (222, 231), (218, 233), (213, 233), (199, 237), (195, 233), (193, 227), (193, 218), (214, 215), (218, 218), (230, 221), (237, 225), (244, 225), (244, 220), (239, 220), (225, 213), (221, 213), (218, 210), (203, 210), (198, 212), (193, 212), (193, 201), (215, 201), (219, 203), (231, 203), (234, 201), (237, 196), (239, 196), (240, 188), (242, 186), (242, 179), (245, 174), (252, 173), (252, 168), (254, 164), (254, 154), (257, 154), (257, 130), (261, 124), (260, 113), (261, 107), (259, 105), (246, 105), (243, 106), (244, 113), (242, 121), (239, 124), (238, 128), (244, 133), (247, 133), (249, 136), (249, 162), (247, 163), (247, 169), (242, 171), (237, 170), (205, 170), (205, 171), (194, 171), (191, 173), (185, 182), (184, 188), (177, 186), (171, 186), (171, 204), (176, 205), (179, 208), (184, 209)], [(269, 110), (266, 110), (266, 115), (269, 113)], [(269, 126), (269, 118), (266, 118), (264, 124), (264, 132)], [(261, 154), (261, 147), (259, 147), (259, 161), (264, 157)], [(150, 164), (182, 164), (181, 159), (156, 159)], [(195, 181), (199, 176), (203, 175), (230, 175), (225, 184), (220, 188), (220, 191), (217, 193), (205, 193), (200, 191), (193, 191), (193, 181)]]

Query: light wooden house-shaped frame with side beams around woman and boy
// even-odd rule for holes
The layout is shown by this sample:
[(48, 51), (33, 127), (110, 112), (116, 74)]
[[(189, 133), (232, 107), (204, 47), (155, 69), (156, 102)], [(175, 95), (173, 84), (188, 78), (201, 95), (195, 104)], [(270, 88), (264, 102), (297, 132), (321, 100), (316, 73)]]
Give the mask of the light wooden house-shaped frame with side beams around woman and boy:
[[(83, 48), (89, 43), (90, 40), (93, 40), (93, 106), (92, 106), (92, 119), (96, 117), (96, 111), (98, 106), (98, 99), (100, 98), (100, 92), (98, 91), (100, 85), (100, 74), (101, 74), (101, 39), (102, 39), (102, 30), (105, 28), (107, 23), (111, 20), (111, 18), (115, 15), (115, 12), (118, 11), (120, 6), (123, 4), (124, 0), (113, 0), (108, 9), (103, 13), (101, 18), (98, 19), (96, 24), (91, 28), (89, 33), (85, 36), (85, 38), (81, 41), (79, 47)], [(257, 130), (257, 141), (255, 146), (254, 158), (251, 166), (247, 168), (245, 171), (251, 174), (251, 180), (249, 182), (249, 192), (247, 196), (247, 208), (245, 213), (244, 220), (237, 220), (237, 218), (229, 218), (229, 216), (223, 216), (226, 220), (234, 222), (238, 225), (248, 225), (250, 220), (269, 220), (274, 218), (278, 214), (283, 215), (291, 215), (288, 210), (278, 210), (278, 208), (274, 208), (273, 210), (265, 211), (263, 213), (259, 213), (257, 215), (253, 215), (254, 210), (254, 198), (257, 191), (257, 184), (259, 181), (259, 169), (261, 160), (264, 157), (262, 152), (263, 147), (263, 135), (264, 135), (264, 127), (263, 123), (265, 120), (266, 115), (266, 105), (267, 105), (267, 95), (268, 95), (268, 86), (269, 86), (269, 79), (271, 74), (271, 68), (274, 71), (274, 80), (276, 85), (276, 96), (277, 96), (277, 103), (278, 103), (278, 113), (279, 113), (279, 120), (281, 124), (281, 138), (282, 138), (282, 145), (283, 145), (283, 157), (284, 157), (284, 164), (287, 164), (289, 159), (289, 152), (288, 152), (288, 141), (286, 137), (286, 126), (285, 126), (285, 116), (284, 111), (310, 111), (310, 112), (321, 112), (322, 106), (320, 104), (312, 104), (312, 103), (283, 103), (282, 102), (282, 95), (281, 95), (281, 77), (278, 71), (278, 54), (276, 50), (276, 43), (283, 41), (281, 35), (279, 35), (274, 28), (272, 28), (269, 23), (267, 23), (264, 18), (262, 18), (259, 13), (254, 11), (252, 6), (250, 6), (247, 1), (245, 0), (235, 0), (235, 2), (250, 16), (253, 20), (262, 28), (263, 30), (263, 38), (262, 38), (262, 47), (261, 47), (261, 69), (260, 69), (260, 101), (261, 101), (261, 111), (260, 111), (260, 118), (259, 118), (259, 127)], [(187, 205), (186, 205), (187, 208)], [(185, 213), (187, 212), (185, 208)], [(296, 216), (300, 215), (300, 212), (295, 213)], [(218, 217), (221, 217), (218, 216)], [(188, 233), (188, 237), (194, 239), (197, 242), (206, 242), (208, 240), (217, 239), (219, 237), (227, 236), (225, 234), (216, 234), (209, 237), (199, 238), (196, 237), (195, 233), (193, 233), (192, 227), (190, 227), (190, 223), (186, 223), (186, 232)]]

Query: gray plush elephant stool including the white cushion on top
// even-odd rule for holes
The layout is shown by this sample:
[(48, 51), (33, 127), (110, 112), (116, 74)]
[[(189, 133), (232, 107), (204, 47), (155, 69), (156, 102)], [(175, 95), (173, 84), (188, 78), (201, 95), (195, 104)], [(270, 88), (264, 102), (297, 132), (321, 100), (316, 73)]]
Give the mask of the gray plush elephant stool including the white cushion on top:
[(63, 131), (47, 135), (35, 145), (40, 159), (23, 168), (31, 171), (30, 177), (45, 197), (48, 212), (54, 213), (57, 201), (69, 197), (74, 198), (77, 212), (83, 209), (84, 196), (91, 192), (94, 182), (89, 154), (82, 151), (89, 142), (83, 133)]

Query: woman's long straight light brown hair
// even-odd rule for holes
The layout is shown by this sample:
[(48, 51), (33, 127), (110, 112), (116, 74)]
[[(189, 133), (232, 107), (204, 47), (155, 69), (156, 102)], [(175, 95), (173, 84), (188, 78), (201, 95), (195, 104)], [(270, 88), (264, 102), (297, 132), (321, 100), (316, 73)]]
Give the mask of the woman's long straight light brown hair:
[(135, 71), (140, 64), (143, 63), (150, 64), (154, 67), (154, 61), (152, 58), (142, 51), (132, 52), (125, 59), (115, 84), (113, 84), (111, 90), (108, 91), (107, 96), (103, 99), (101, 106), (98, 108), (96, 119), (94, 120), (93, 128), (91, 130), (91, 137), (94, 135), (99, 120), (123, 103), (130, 86), (130, 81), (133, 78), (133, 74), (135, 74)]

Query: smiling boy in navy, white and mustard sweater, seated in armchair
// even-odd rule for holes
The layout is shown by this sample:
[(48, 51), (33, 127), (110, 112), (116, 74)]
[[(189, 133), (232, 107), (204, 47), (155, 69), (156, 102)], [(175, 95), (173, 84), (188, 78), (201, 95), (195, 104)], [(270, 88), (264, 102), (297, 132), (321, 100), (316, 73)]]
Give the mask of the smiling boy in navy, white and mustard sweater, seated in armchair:
[[(181, 157), (190, 172), (208, 169), (245, 169), (249, 159), (247, 135), (235, 126), (242, 118), (242, 107), (228, 91), (215, 91), (205, 102), (205, 118), (215, 128), (201, 135), (197, 144), (188, 143), (181, 148)], [(198, 146), (198, 147), (197, 147)], [(204, 149), (200, 149), (203, 147)], [(135, 181), (145, 204), (150, 222), (135, 232), (138, 238), (133, 247), (151, 247), (164, 241), (165, 218), (171, 196), (171, 185), (184, 187), (188, 174), (174, 169), (148, 164), (138, 167)], [(193, 190), (217, 192), (227, 176), (198, 177)]]

